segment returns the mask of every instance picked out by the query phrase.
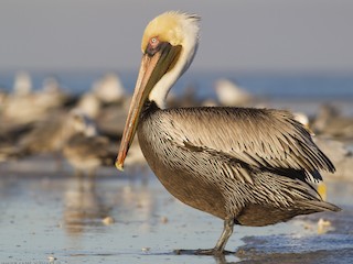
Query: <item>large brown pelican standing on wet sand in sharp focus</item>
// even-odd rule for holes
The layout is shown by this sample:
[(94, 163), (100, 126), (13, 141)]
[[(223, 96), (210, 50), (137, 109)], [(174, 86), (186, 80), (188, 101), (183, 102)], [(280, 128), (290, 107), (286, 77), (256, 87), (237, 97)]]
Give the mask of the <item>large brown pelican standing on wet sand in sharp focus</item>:
[(142, 61), (116, 166), (122, 169), (136, 131), (142, 153), (179, 200), (224, 220), (212, 250), (223, 254), (234, 224), (261, 227), (295, 216), (339, 211), (311, 182), (334, 172), (309, 132), (287, 111), (250, 108), (163, 109), (199, 43), (194, 14), (167, 12), (142, 37)]

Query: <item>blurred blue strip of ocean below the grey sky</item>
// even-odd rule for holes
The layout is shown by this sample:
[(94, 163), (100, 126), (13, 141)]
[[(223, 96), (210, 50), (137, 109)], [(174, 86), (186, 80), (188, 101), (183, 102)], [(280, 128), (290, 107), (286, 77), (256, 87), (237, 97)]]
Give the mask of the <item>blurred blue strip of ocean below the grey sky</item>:
[[(67, 92), (75, 95), (89, 90), (92, 84), (105, 73), (107, 72), (30, 72), (34, 89), (40, 89), (43, 79), (52, 76), (58, 79)], [(138, 73), (116, 73), (126, 89), (132, 92)], [(1, 89), (11, 90), (14, 74), (0, 72)], [(189, 70), (176, 81), (172, 91), (180, 95), (188, 87), (193, 87), (200, 98), (214, 98), (214, 81), (218, 78), (228, 78), (255, 96), (271, 99), (353, 100), (353, 74), (238, 74)]]

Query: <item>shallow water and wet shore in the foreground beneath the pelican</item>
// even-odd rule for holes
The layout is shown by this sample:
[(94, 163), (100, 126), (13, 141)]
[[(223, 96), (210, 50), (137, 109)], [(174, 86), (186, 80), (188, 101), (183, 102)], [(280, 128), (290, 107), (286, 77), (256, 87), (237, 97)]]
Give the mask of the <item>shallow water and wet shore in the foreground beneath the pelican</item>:
[[(342, 212), (235, 227), (236, 253), (215, 258), (173, 253), (212, 248), (223, 222), (172, 198), (150, 170), (101, 169), (95, 182), (71, 174), (45, 156), (0, 164), (0, 263), (353, 262), (353, 182), (339, 176), (327, 180), (328, 198)], [(322, 234), (320, 218), (331, 222)]]

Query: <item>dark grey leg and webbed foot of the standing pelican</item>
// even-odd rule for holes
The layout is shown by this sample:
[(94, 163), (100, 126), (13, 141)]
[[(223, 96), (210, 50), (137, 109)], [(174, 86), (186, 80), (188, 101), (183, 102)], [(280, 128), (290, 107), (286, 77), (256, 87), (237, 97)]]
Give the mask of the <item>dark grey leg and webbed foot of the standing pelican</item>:
[(216, 245), (211, 250), (197, 250), (195, 252), (196, 255), (222, 255), (222, 254), (229, 254), (231, 252), (224, 252), (224, 248), (233, 233), (234, 227), (234, 218), (226, 218), (224, 220), (224, 228), (218, 239)]

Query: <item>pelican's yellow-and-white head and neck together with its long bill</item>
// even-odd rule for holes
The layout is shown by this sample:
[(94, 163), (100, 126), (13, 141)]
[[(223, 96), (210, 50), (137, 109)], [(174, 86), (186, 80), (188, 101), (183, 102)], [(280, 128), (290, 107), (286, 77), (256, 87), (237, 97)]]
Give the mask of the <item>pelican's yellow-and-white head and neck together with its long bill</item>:
[(197, 15), (171, 11), (147, 25), (141, 66), (116, 161), (118, 169), (122, 170), (145, 102), (154, 101), (164, 108), (170, 88), (192, 63), (199, 44), (199, 21)]

